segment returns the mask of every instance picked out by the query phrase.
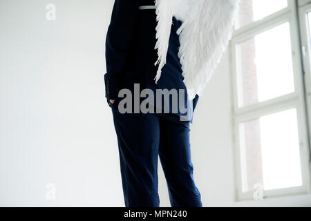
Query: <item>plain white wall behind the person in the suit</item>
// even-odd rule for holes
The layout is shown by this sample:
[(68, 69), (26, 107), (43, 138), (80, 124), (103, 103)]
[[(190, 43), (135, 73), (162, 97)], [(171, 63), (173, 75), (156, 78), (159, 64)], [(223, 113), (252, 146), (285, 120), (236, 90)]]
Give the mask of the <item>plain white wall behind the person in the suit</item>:
[[(55, 3), (57, 20), (46, 20)], [(113, 0), (0, 1), (0, 206), (124, 206), (104, 99)], [(310, 195), (234, 203), (231, 89), (225, 55), (191, 129), (204, 206), (311, 206)], [(160, 166), (160, 164), (159, 164)], [(160, 171), (161, 206), (169, 206)], [(56, 200), (46, 200), (46, 184)]]

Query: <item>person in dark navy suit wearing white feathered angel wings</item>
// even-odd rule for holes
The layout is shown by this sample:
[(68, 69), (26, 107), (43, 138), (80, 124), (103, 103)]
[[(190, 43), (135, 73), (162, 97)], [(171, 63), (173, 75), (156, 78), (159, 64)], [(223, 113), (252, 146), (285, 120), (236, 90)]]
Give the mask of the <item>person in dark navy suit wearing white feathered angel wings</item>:
[[(202, 206), (193, 177), (189, 124), (198, 95), (229, 41), (236, 2), (115, 0), (104, 79), (126, 206), (159, 206), (158, 155), (171, 206)], [(213, 16), (209, 10), (219, 11)], [(217, 17), (219, 12), (224, 15)]]

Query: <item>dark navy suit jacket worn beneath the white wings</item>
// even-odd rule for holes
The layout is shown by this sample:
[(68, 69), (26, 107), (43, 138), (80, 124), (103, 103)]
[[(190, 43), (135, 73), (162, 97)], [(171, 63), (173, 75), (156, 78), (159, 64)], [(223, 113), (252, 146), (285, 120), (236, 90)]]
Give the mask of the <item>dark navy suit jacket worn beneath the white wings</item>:
[[(106, 35), (106, 70), (104, 75), (106, 99), (115, 99), (116, 104), (120, 101), (117, 97), (122, 88), (128, 88), (133, 92), (133, 84), (140, 84), (140, 90), (144, 88), (171, 88), (187, 89), (182, 82), (182, 70), (180, 61), (173, 59), (178, 54), (180, 42), (176, 41), (176, 28), (180, 21), (173, 18), (171, 29), (170, 46), (167, 53), (167, 64), (162, 68), (162, 77), (158, 84), (155, 83), (158, 65), (156, 46), (156, 10), (139, 10), (140, 6), (154, 6), (153, 0), (115, 0), (111, 23)], [(175, 63), (174, 63), (175, 62)], [(173, 68), (172, 68), (173, 66)], [(179, 66), (179, 67), (178, 67)], [(190, 101), (196, 108), (198, 95)], [(187, 100), (185, 100), (187, 104)], [(110, 102), (109, 102), (110, 104)], [(169, 110), (170, 112), (172, 110)], [(177, 115), (182, 115), (179, 112)], [(192, 120), (192, 113), (189, 113)]]

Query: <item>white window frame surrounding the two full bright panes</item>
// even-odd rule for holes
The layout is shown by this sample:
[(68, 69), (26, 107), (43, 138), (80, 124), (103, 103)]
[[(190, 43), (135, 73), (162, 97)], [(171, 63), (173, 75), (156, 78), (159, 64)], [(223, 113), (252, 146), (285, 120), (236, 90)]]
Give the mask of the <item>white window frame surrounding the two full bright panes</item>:
[[(272, 0), (273, 1), (273, 0)], [(237, 45), (250, 37), (254, 37), (265, 30), (274, 28), (282, 23), (290, 24), (290, 38), (292, 46), (292, 59), (294, 70), (294, 93), (276, 97), (265, 102), (259, 102), (249, 106), (238, 107), (238, 59)], [(301, 157), (302, 186), (285, 189), (263, 191), (263, 198), (276, 197), (280, 195), (292, 195), (301, 193), (311, 193), (310, 188), (310, 144), (308, 142), (308, 124), (305, 111), (305, 99), (303, 91), (303, 68), (301, 63), (301, 48), (299, 41), (298, 13), (296, 11), (296, 1), (288, 0), (288, 7), (259, 21), (243, 26), (235, 30), (230, 43), (231, 50), (231, 70), (232, 70), (232, 124), (234, 128), (234, 173), (235, 173), (235, 200), (253, 200), (253, 191), (243, 193), (241, 174), (241, 151), (239, 124), (247, 122), (257, 117), (278, 113), (290, 108), (296, 108), (297, 122), (299, 129), (299, 144)]]

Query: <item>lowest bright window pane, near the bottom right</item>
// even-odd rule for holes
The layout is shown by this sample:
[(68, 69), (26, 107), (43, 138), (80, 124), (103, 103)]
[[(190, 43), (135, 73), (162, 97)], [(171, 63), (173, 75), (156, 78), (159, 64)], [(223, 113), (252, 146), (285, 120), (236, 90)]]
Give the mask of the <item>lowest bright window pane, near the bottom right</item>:
[(239, 126), (242, 191), (301, 186), (296, 109), (259, 117)]

